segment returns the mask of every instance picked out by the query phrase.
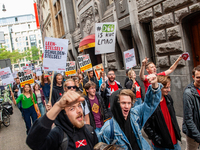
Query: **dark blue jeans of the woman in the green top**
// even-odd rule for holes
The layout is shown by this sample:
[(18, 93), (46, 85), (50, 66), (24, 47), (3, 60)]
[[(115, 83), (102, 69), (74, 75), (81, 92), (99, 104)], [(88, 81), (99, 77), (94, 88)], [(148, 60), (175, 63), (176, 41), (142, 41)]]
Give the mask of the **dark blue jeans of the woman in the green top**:
[(35, 111), (34, 106), (32, 105), (29, 108), (26, 108), (26, 109), (23, 108), (23, 114), (24, 114), (24, 121), (26, 124), (26, 133), (28, 134), (31, 128), (31, 119), (32, 119), (32, 123), (34, 123), (35, 120), (37, 119), (37, 113)]

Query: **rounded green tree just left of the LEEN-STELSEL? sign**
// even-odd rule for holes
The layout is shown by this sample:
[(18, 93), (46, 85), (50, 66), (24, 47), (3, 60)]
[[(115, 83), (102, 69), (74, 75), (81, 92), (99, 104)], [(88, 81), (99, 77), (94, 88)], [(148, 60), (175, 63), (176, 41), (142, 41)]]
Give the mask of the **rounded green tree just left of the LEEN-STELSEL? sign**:
[(38, 49), (36, 46), (33, 46), (30, 50), (27, 50), (25, 55), (26, 59), (32, 61), (33, 63), (39, 60), (42, 56), (42, 54), (40, 54), (40, 49)]

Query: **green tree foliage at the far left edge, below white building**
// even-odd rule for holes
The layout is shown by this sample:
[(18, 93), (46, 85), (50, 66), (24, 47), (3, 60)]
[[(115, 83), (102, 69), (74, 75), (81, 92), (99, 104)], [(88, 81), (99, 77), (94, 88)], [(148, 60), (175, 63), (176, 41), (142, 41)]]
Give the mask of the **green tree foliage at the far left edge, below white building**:
[(0, 59), (10, 59), (11, 63), (17, 63), (19, 59), (25, 57), (25, 53), (19, 53), (17, 50), (12, 52), (7, 51), (6, 48), (0, 48)]

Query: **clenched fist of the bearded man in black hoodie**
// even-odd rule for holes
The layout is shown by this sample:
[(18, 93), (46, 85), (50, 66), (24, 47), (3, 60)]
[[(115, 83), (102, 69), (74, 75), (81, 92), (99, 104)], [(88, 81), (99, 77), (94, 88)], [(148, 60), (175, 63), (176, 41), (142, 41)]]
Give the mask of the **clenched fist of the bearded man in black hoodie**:
[(66, 93), (64, 93), (61, 99), (56, 103), (60, 108), (63, 109), (65, 107), (69, 107), (77, 102), (81, 102), (84, 100), (85, 99), (81, 97), (78, 93), (68, 90)]

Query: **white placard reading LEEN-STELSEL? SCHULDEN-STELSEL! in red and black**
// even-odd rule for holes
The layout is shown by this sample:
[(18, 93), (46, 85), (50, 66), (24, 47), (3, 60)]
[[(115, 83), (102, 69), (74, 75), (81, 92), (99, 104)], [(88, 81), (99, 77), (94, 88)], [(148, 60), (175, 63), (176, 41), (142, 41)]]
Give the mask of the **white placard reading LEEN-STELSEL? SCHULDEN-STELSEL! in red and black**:
[(43, 68), (46, 71), (65, 71), (68, 40), (45, 37)]

